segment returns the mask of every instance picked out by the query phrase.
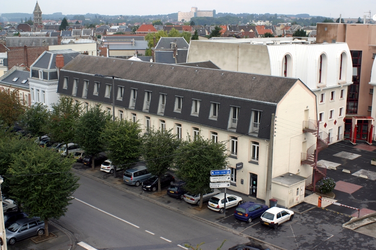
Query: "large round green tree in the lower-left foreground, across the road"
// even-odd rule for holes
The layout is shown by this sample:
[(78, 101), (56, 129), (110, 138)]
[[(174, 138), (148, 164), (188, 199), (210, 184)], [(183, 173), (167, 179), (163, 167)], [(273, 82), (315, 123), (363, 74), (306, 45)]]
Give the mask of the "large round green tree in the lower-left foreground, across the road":
[(79, 186), (79, 178), (71, 172), (73, 163), (74, 159), (62, 159), (59, 153), (34, 145), (18, 154), (6, 173), (9, 196), (30, 217), (45, 221), (47, 236), (48, 220), (65, 215)]

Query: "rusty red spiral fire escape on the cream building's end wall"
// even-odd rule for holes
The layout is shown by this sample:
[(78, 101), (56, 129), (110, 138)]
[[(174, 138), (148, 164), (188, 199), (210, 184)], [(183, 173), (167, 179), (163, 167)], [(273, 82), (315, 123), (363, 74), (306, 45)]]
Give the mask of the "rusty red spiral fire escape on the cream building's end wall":
[(301, 163), (313, 167), (313, 173), (307, 178), (306, 188), (315, 191), (316, 183), (327, 176), (327, 168), (317, 162), (318, 153), (327, 148), (330, 138), (327, 132), (319, 128), (316, 120), (303, 121), (303, 132), (309, 132), (316, 136), (316, 144), (310, 146), (306, 153), (302, 153)]

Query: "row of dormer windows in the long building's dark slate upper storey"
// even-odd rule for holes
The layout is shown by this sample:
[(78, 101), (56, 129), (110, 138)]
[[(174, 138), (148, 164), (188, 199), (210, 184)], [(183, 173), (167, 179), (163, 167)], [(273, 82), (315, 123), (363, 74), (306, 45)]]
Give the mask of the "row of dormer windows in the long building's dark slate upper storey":
[[(63, 88), (68, 89), (68, 77), (64, 78), (64, 85)], [(94, 92), (93, 95), (98, 95), (99, 93), (99, 82), (94, 82)], [(110, 98), (111, 91), (112, 91), (112, 84), (105, 84), (105, 98)], [(89, 81), (84, 81), (84, 89), (82, 97), (86, 98), (88, 94), (88, 88), (89, 88)], [(73, 90), (72, 95), (76, 96), (78, 90), (78, 79), (74, 79), (73, 82)], [(134, 109), (136, 105), (136, 99), (137, 99), (138, 89), (131, 88), (131, 94), (130, 94), (130, 101), (129, 101), (129, 108)], [(117, 100), (122, 101), (124, 95), (124, 87), (118, 86), (118, 93), (117, 93)], [(145, 91), (144, 96), (144, 104), (142, 111), (148, 112), (150, 108), (150, 101), (151, 101), (152, 92), (151, 91)], [(158, 114), (163, 115), (164, 114), (164, 108), (166, 104), (167, 94), (160, 93), (159, 94), (159, 105), (158, 105)], [(180, 113), (182, 111), (183, 107), (183, 100), (184, 97), (182, 96), (175, 96), (175, 104), (174, 104), (174, 112)], [(192, 99), (191, 103), (191, 112), (190, 114), (192, 116), (199, 116), (200, 113), (200, 104), (201, 100), (198, 99)], [(213, 103), (211, 102), (211, 108), (210, 108), (210, 114), (209, 119), (211, 120), (217, 120), (218, 113), (219, 113), (219, 103)], [(228, 128), (236, 128), (238, 119), (239, 119), (239, 111), (240, 107), (237, 106), (231, 106), (230, 111), (230, 118), (228, 123)], [(261, 111), (260, 110), (252, 110), (252, 116), (251, 116), (251, 124), (249, 128), (250, 133), (258, 133), (259, 125), (260, 125), (260, 119), (261, 119)]]

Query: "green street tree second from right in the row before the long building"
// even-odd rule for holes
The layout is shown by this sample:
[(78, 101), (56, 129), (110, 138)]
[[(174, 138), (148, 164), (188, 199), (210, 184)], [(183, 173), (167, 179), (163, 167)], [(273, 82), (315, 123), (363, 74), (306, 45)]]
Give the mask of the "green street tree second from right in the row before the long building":
[(161, 176), (171, 167), (172, 157), (180, 140), (170, 130), (149, 129), (145, 134), (143, 144), (143, 159), (146, 161), (149, 172), (158, 176), (158, 193), (161, 193)]

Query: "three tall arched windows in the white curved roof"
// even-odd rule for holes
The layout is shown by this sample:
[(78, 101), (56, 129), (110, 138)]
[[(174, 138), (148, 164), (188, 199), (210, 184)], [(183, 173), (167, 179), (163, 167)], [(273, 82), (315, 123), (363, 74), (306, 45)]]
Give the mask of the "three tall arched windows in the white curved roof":
[[(346, 80), (346, 69), (347, 69), (347, 54), (342, 52), (339, 59), (339, 69), (338, 69), (338, 81)], [(318, 83), (326, 83), (328, 70), (328, 58), (326, 54), (321, 54), (319, 58), (319, 72), (318, 72)], [(284, 77), (292, 77), (292, 58), (291, 55), (287, 54), (283, 58), (283, 72)]]

